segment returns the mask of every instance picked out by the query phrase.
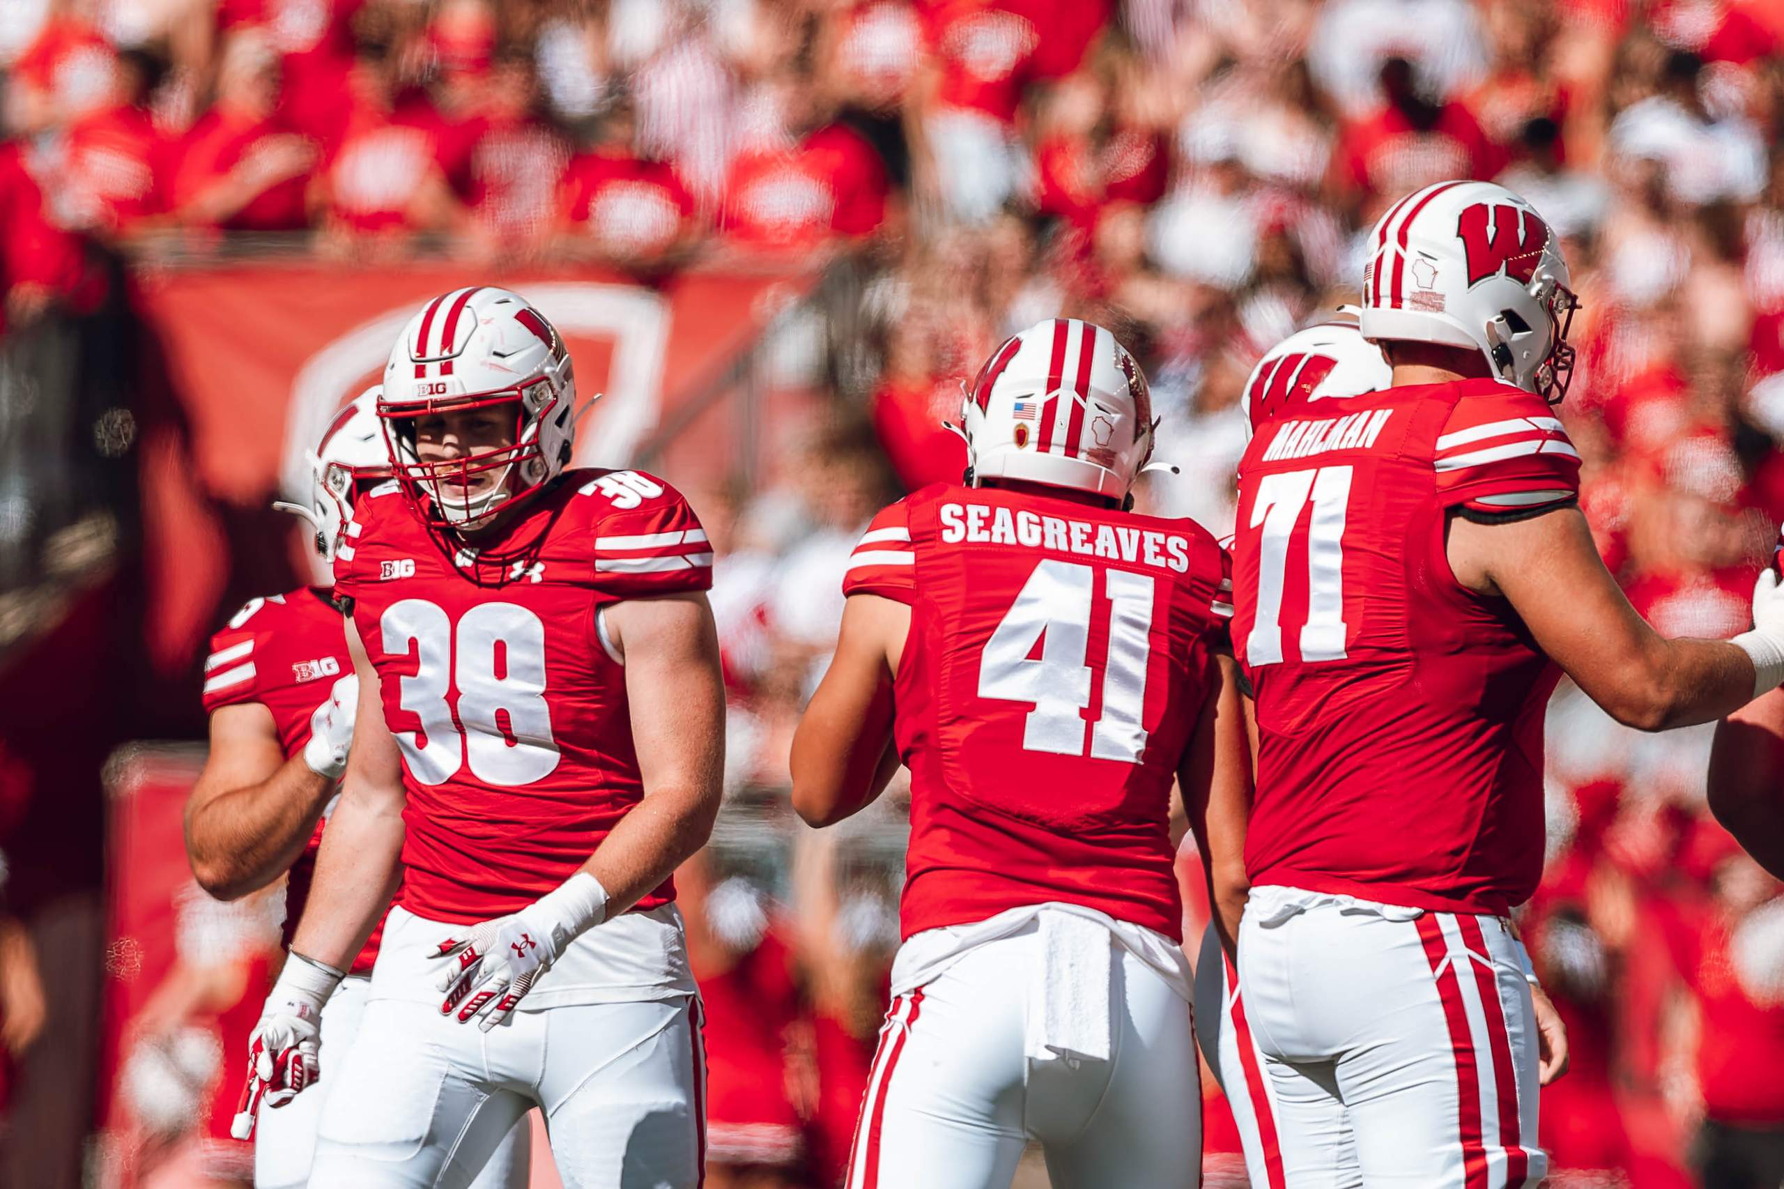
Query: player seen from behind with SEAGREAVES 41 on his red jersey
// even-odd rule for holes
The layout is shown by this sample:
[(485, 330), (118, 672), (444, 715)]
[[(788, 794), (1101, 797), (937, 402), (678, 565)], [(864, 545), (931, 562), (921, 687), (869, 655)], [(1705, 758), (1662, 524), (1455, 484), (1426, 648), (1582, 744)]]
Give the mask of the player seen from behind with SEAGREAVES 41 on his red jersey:
[(1133, 357), (1042, 321), (963, 405), (967, 486), (874, 518), (837, 653), (794, 736), (822, 827), (903, 761), (912, 834), (892, 1007), (847, 1185), (1193, 1185), (1201, 1094), (1172, 780), (1206, 848), (1249, 759), (1220, 546), (1138, 516), (1152, 450)]

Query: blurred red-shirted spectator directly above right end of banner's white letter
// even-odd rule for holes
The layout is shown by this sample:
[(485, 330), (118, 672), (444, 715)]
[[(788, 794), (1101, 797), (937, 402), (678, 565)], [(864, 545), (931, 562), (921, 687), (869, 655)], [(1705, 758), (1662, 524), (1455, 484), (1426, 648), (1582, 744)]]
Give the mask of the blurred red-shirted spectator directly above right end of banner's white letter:
[(569, 254), (649, 268), (689, 245), (694, 196), (667, 162), (642, 157), (635, 145), (632, 104), (617, 100), (596, 145), (564, 171), (558, 212)]

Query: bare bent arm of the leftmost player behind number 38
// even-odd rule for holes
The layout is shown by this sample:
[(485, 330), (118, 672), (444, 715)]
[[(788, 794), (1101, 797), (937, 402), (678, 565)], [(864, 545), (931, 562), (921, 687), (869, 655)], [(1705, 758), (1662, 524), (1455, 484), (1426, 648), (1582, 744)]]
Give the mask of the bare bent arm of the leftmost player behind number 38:
[(296, 862), (316, 830), (334, 780), (289, 761), (260, 703), (211, 716), (211, 755), (186, 802), (186, 857), (218, 900), (266, 887)]

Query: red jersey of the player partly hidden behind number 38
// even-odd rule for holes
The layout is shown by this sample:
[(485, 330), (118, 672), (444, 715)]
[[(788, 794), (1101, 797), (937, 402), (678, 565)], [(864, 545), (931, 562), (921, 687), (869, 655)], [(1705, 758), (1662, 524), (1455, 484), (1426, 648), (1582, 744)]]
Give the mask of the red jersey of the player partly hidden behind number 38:
[[(310, 714), (328, 698), (335, 680), (353, 671), (346, 650), (341, 611), (325, 586), (300, 586), (289, 594), (252, 598), (211, 637), (205, 661), (205, 714), (225, 705), (259, 702), (273, 714), (278, 746), (285, 759), (310, 741)], [(285, 944), (298, 932), (303, 902), (316, 878), (316, 852), (323, 844), (326, 816), (316, 823), (303, 853), (291, 864), (285, 882)], [(353, 973), (371, 971), (378, 957), (384, 921), (371, 930), (366, 948), (353, 959)]]

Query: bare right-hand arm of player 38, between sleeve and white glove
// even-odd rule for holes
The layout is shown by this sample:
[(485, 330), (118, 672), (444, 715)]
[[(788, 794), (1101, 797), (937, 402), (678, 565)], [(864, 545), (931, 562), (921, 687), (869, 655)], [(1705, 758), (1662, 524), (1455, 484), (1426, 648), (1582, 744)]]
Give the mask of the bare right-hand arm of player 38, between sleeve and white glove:
[(644, 800), (583, 869), (624, 912), (706, 844), (724, 791), (724, 680), (705, 594), (628, 600), (607, 609), (626, 664), (632, 743)]

